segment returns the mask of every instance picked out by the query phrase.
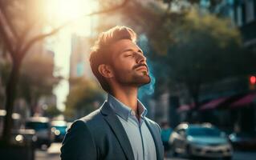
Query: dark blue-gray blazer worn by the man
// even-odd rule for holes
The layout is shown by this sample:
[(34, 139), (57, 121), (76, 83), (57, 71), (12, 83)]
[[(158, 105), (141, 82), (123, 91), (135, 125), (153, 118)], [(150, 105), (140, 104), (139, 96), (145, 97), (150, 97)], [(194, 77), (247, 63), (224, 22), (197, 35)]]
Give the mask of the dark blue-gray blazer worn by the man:
[[(164, 159), (161, 129), (145, 118), (156, 145), (157, 160)], [(134, 160), (132, 146), (120, 120), (108, 102), (75, 121), (63, 140), (62, 160)]]

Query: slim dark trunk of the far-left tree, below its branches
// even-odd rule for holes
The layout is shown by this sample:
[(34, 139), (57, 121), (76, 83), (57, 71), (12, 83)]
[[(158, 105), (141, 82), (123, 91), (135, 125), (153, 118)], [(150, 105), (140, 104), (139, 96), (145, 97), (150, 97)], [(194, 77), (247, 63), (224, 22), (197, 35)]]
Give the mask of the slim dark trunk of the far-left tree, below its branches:
[(13, 66), (10, 72), (10, 78), (6, 86), (6, 116), (3, 126), (2, 141), (10, 144), (10, 134), (13, 126), (12, 113), (14, 109), (14, 100), (16, 96), (16, 86), (18, 82), (20, 61), (13, 61)]

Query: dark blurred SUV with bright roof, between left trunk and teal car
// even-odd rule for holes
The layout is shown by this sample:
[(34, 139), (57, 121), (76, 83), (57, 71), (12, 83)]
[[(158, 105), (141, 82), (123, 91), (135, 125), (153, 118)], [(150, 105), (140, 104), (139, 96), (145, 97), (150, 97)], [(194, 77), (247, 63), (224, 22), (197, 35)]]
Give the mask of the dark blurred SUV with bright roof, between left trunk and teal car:
[(37, 137), (36, 146), (51, 146), (53, 135), (51, 134), (51, 124), (49, 118), (31, 117), (26, 120), (26, 129), (35, 130)]

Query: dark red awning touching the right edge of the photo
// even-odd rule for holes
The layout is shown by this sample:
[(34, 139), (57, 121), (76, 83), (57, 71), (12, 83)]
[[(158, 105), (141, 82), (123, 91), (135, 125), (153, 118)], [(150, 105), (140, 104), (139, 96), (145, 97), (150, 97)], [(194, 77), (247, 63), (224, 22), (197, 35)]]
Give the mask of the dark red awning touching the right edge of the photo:
[(254, 102), (255, 98), (256, 98), (256, 93), (246, 94), (242, 98), (239, 98), (237, 101), (231, 103), (230, 107), (234, 108), (234, 107), (238, 107), (238, 106), (250, 105), (252, 102)]

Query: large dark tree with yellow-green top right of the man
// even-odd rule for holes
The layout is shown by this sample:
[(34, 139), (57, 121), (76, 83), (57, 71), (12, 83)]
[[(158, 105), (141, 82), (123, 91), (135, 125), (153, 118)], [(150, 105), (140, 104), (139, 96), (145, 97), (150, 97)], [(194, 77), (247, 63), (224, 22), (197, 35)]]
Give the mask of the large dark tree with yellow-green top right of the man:
[(201, 85), (246, 75), (254, 68), (252, 54), (242, 49), (241, 36), (228, 20), (192, 10), (176, 25), (171, 31), (175, 42), (163, 61), (169, 64), (170, 78), (185, 84), (195, 106)]

